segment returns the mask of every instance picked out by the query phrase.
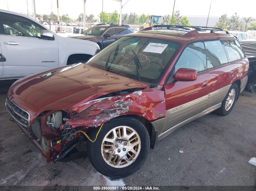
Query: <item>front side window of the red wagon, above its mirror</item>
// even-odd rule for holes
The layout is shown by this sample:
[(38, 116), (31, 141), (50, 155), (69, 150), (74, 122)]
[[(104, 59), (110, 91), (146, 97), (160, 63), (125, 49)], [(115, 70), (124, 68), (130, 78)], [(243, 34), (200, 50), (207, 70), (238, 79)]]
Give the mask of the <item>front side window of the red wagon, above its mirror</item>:
[(189, 68), (198, 72), (206, 69), (206, 54), (204, 43), (198, 42), (188, 45), (175, 65), (175, 72), (179, 68)]

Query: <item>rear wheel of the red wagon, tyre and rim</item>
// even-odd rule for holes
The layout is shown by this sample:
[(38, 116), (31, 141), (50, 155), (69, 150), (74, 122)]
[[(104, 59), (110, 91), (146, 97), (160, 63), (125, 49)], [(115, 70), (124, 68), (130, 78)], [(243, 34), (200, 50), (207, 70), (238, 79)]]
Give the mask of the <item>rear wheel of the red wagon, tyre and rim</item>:
[(224, 100), (222, 101), (221, 107), (218, 110), (215, 110), (215, 113), (222, 116), (228, 115), (236, 103), (237, 96), (238, 96), (238, 85), (235, 83), (231, 85), (231, 87), (228, 90), (228, 94), (225, 96)]

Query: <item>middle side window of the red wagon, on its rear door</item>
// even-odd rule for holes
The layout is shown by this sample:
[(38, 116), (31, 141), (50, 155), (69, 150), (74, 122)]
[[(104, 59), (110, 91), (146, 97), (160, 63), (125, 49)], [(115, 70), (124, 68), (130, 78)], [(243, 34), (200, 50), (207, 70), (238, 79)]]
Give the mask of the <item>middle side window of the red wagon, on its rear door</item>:
[(218, 67), (228, 63), (228, 58), (219, 40), (204, 42), (207, 56), (207, 68)]

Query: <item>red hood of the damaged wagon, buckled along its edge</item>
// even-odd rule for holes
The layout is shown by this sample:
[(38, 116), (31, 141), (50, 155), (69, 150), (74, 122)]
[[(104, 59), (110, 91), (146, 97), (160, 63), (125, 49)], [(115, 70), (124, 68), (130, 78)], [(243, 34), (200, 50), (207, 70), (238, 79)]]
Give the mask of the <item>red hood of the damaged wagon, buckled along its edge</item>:
[(78, 63), (16, 81), (10, 99), (30, 113), (30, 120), (46, 110), (70, 110), (105, 94), (149, 84)]

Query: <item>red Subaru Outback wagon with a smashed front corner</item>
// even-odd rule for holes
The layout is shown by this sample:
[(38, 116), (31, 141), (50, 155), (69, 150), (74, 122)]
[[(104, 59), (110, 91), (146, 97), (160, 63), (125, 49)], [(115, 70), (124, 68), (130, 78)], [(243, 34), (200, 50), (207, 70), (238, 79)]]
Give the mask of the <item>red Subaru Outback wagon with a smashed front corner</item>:
[(86, 63), (16, 81), (6, 108), (48, 162), (74, 158), (87, 141), (95, 169), (118, 178), (138, 170), (149, 148), (175, 129), (212, 111), (230, 113), (247, 72), (228, 32), (156, 25)]

